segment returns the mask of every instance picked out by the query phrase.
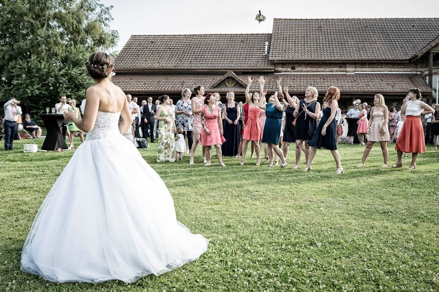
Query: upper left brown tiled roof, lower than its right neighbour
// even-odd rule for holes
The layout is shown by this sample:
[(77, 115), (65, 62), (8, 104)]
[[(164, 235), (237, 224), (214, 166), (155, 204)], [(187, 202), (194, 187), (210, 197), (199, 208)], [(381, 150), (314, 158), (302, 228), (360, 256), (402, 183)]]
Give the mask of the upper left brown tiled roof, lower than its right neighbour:
[(265, 53), (271, 34), (133, 35), (115, 60), (116, 70), (273, 69)]

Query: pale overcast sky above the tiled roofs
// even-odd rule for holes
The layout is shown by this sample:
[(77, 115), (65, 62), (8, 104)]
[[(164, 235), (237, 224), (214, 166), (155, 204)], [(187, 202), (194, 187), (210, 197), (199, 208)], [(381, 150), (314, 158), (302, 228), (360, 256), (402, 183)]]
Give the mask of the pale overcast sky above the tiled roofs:
[[(120, 51), (131, 35), (271, 33), (273, 18), (439, 17), (439, 0), (101, 0)], [(261, 10), (266, 20), (258, 23)]]

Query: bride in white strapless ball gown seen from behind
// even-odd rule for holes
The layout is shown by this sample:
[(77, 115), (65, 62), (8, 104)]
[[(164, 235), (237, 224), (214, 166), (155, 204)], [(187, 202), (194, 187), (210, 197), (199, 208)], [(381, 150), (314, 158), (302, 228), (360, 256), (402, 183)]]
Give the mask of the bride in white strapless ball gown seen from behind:
[[(93, 53), (86, 67), (95, 85), (87, 89), (83, 119), (74, 112), (65, 118), (87, 139), (41, 204), (21, 270), (61, 283), (133, 282), (199, 258), (208, 240), (177, 221), (166, 185), (121, 134), (131, 127), (131, 112), (110, 81), (110, 56)], [(133, 173), (147, 189), (132, 183)]]

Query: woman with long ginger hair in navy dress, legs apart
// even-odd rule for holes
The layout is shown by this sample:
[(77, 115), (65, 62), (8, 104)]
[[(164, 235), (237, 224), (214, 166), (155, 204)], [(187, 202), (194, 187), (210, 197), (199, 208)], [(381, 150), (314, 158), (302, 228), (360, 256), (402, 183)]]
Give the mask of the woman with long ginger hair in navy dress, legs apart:
[(308, 144), (311, 146), (308, 154), (308, 164), (306, 166), (309, 168), (316, 156), (317, 149), (329, 149), (331, 150), (332, 156), (334, 157), (337, 164), (337, 174), (343, 173), (343, 167), (341, 167), (340, 154), (337, 150), (337, 123), (335, 120), (335, 115), (337, 109), (339, 108), (339, 103), (337, 102), (340, 98), (340, 90), (331, 86), (328, 88), (323, 102), (327, 103), (327, 107), (323, 110), (323, 117), (320, 120), (319, 126), (316, 129), (311, 140)]

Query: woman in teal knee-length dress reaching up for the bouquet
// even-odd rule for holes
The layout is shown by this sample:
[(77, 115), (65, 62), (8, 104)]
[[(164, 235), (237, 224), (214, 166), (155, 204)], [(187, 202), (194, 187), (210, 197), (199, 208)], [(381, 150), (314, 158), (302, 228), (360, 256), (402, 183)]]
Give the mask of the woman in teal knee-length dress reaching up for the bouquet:
[[(280, 81), (281, 78), (277, 80), (279, 84)], [(268, 159), (269, 159), (268, 167), (273, 167), (273, 155), (274, 155), (273, 151), (274, 151), (282, 161), (282, 164), (280, 164), (280, 168), (283, 168), (287, 165), (287, 163), (285, 157), (283, 156), (282, 150), (280, 150), (278, 146), (280, 131), (282, 130), (282, 117), (284, 111), (284, 105), (282, 104), (283, 96), (280, 96), (278, 98), (278, 92), (275, 92), (268, 99), (268, 103), (263, 104), (264, 96), (266, 93), (267, 91), (262, 91), (262, 96), (259, 99), (259, 108), (265, 110), (265, 115), (267, 117), (265, 120), (264, 132), (262, 134), (262, 143), (268, 145)]]

